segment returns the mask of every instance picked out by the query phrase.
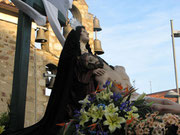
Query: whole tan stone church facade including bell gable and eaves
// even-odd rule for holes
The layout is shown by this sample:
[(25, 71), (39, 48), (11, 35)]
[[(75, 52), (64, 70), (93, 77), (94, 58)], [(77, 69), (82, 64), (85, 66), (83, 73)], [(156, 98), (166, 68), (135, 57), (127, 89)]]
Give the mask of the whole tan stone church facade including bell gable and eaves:
[[(71, 13), (86, 27), (93, 49), (93, 15), (88, 13), (85, 0), (74, 0)], [(0, 0), (0, 113), (8, 110), (12, 92), (17, 20), (18, 9), (9, 0)], [(37, 25), (32, 23), (25, 126), (39, 121), (45, 112), (49, 97), (45, 95), (46, 78), (43, 74), (47, 65), (57, 66), (62, 50), (50, 24), (45, 27), (48, 42), (38, 49), (35, 47)]]

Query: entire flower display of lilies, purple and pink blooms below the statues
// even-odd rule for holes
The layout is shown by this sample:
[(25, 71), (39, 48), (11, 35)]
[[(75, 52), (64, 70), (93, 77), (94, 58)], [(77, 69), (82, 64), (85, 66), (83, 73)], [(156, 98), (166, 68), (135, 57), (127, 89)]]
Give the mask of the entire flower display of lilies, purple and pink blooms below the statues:
[[(166, 134), (172, 126), (180, 134), (180, 117), (172, 114), (159, 116), (152, 113), (146, 103), (145, 94), (131, 101), (134, 88), (122, 88), (121, 85), (107, 81), (104, 89), (86, 96), (79, 101), (80, 110), (75, 111), (74, 119), (63, 126), (59, 134), (63, 135), (161, 135)], [(119, 93), (111, 92), (118, 88)]]

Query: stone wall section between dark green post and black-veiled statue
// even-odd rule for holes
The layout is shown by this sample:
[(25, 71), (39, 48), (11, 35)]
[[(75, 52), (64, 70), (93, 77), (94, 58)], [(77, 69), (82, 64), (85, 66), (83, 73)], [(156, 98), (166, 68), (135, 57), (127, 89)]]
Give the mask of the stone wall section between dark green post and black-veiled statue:
[(39, 121), (45, 112), (49, 97), (45, 96), (46, 82), (43, 73), (49, 63), (57, 65), (58, 59), (46, 51), (31, 47), (25, 126)]

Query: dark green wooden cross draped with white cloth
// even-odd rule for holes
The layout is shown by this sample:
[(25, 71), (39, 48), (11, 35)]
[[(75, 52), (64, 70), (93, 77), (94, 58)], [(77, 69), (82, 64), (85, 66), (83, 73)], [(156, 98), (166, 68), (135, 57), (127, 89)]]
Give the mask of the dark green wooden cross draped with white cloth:
[[(23, 1), (36, 9), (42, 15), (46, 15), (42, 0)], [(58, 20), (62, 26), (65, 25), (66, 19), (60, 11), (58, 12)], [(13, 86), (10, 104), (10, 131), (15, 131), (24, 127), (31, 24), (32, 19), (19, 10)]]

